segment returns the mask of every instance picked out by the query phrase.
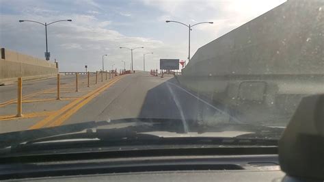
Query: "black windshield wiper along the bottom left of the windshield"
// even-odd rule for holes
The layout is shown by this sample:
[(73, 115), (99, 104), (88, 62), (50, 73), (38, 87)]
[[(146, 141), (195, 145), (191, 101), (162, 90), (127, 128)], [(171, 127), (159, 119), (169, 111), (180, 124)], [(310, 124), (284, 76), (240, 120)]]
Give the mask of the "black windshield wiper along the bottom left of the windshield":
[[(119, 124), (123, 125), (118, 126)], [(103, 126), (116, 126), (116, 128), (109, 129), (109, 138), (126, 138), (134, 135), (141, 137), (143, 134), (139, 135), (137, 133), (149, 131), (185, 133), (185, 129), (180, 120), (131, 118), (99, 122), (91, 121), (59, 127), (2, 133), (0, 134), (0, 148), (15, 146), (24, 142), (57, 140), (56, 138), (62, 138), (62, 140), (63, 138), (80, 138), (81, 135), (77, 135), (77, 133), (85, 129), (87, 129), (87, 132), (85, 134), (83, 132), (83, 138), (98, 138), (98, 134), (100, 135), (101, 132), (100, 129), (97, 130), (95, 135), (89, 129), (97, 129)], [(71, 133), (74, 133), (74, 135)], [(101, 138), (104, 138), (104, 136)]]

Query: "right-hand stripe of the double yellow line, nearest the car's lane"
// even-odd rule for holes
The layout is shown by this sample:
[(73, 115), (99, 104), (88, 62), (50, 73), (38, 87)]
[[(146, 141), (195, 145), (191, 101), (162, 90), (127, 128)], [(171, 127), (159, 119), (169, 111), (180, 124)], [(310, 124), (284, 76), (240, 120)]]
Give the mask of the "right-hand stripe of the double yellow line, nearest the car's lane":
[[(116, 81), (113, 81), (113, 83), (116, 83), (118, 80), (120, 80), (120, 79), (116, 79)], [(94, 99), (96, 96), (98, 96), (101, 92), (105, 91), (107, 88), (112, 86), (113, 83), (110, 83), (109, 85), (105, 86), (105, 88), (103, 88), (101, 90), (98, 90), (98, 92), (96, 92), (96, 93), (92, 94), (91, 96), (87, 97), (87, 99), (81, 101), (81, 103), (79, 103), (78, 105), (76, 105), (75, 107), (70, 109), (68, 112), (65, 112), (65, 114), (63, 114), (62, 116), (59, 116), (59, 118), (55, 119), (55, 121), (52, 122), (49, 125), (49, 127), (56, 127), (56, 126), (62, 125), (62, 123), (65, 120), (70, 118), (70, 116), (75, 114), (75, 112), (77, 112), (79, 109), (81, 109), (81, 107), (83, 107), (85, 104), (89, 103), (92, 99)]]

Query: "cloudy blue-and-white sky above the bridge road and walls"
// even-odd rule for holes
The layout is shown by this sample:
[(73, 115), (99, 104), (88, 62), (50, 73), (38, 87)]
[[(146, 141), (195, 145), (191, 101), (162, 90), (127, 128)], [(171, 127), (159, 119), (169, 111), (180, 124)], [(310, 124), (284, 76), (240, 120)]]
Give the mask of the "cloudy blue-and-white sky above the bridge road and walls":
[(60, 71), (95, 71), (131, 66), (135, 70), (159, 68), (161, 58), (187, 60), (188, 28), (166, 20), (202, 24), (191, 31), (191, 57), (199, 47), (251, 21), (286, 0), (0, 0), (0, 47), (44, 57), (45, 30), (36, 23), (51, 23), (48, 44), (51, 62)]

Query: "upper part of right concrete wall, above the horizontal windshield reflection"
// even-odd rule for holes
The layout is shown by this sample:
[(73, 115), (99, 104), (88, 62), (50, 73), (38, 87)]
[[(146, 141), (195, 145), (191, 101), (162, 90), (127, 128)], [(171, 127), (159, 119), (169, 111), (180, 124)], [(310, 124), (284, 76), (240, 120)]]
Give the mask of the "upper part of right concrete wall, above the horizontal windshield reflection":
[(324, 1), (290, 0), (210, 42), (184, 75), (323, 74)]

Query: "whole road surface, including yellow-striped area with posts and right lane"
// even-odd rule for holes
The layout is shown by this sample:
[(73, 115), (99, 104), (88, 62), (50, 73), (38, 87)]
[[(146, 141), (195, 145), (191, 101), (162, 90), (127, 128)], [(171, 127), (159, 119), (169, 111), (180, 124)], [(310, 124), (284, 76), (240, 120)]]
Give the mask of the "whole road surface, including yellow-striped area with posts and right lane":
[(92, 77), (90, 88), (85, 86), (85, 75), (79, 79), (81, 88), (75, 92), (75, 76), (62, 76), (62, 90), (66, 88), (61, 101), (55, 99), (56, 79), (23, 84), (23, 95), (32, 96), (23, 99), (22, 118), (16, 118), (16, 103), (6, 103), (16, 99), (16, 86), (1, 87), (0, 133), (120, 118), (230, 120), (211, 101), (182, 88), (172, 75), (161, 78), (139, 71), (98, 84)]

